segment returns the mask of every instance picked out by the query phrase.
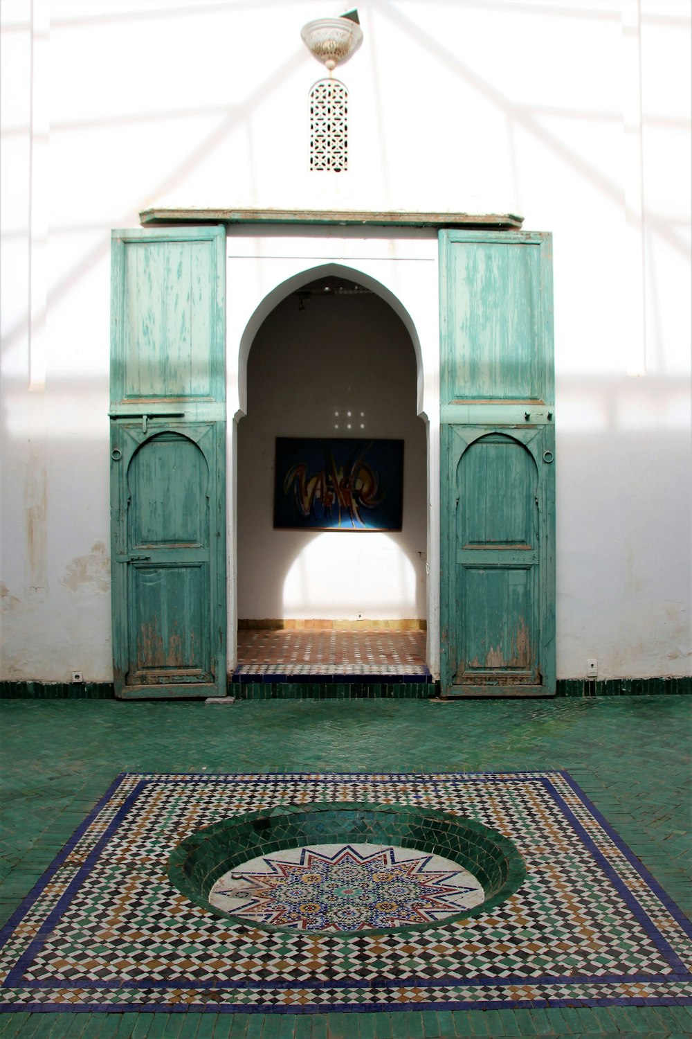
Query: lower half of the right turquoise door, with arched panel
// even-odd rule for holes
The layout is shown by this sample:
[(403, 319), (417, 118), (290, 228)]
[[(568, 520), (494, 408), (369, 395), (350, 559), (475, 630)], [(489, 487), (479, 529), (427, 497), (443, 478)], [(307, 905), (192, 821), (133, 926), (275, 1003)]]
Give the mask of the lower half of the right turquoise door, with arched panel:
[(554, 692), (553, 430), (447, 424), (447, 692)]

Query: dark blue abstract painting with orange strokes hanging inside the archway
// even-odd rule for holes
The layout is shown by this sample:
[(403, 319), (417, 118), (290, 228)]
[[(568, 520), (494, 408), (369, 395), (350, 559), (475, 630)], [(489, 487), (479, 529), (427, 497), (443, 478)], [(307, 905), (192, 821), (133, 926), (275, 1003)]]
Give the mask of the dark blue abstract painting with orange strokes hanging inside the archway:
[(277, 436), (274, 526), (400, 530), (404, 441)]

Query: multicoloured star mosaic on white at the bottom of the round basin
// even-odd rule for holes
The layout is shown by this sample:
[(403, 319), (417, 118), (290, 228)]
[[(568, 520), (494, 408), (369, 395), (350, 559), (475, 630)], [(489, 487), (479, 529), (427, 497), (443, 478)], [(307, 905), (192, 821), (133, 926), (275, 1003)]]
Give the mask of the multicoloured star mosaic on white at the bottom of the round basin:
[(456, 862), (370, 844), (260, 856), (210, 895), (217, 908), (259, 924), (334, 932), (434, 923), (482, 901), (482, 886)]

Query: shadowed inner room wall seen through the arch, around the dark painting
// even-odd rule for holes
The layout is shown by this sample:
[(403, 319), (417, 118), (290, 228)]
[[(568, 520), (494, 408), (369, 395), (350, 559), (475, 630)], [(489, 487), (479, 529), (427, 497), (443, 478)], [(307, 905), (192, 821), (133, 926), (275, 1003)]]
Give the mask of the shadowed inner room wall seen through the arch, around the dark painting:
[[(316, 277), (312, 269), (278, 287), (246, 330), (239, 381), (247, 417), (237, 434), (238, 617), (244, 625), (426, 620), (420, 348), (404, 309), (395, 310), (387, 295), (358, 271), (325, 265)], [(275, 529), (277, 437), (403, 441), (402, 529)]]

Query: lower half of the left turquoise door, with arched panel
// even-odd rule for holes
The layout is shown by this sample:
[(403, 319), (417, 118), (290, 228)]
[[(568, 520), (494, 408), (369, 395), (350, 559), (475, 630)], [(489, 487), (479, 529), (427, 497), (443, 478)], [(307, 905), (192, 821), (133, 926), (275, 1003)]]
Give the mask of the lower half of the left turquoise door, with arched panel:
[[(222, 452), (216, 423), (112, 424), (114, 620), (122, 693), (214, 695)], [(216, 507), (213, 506), (217, 502)], [(193, 688), (194, 687), (194, 688)]]

